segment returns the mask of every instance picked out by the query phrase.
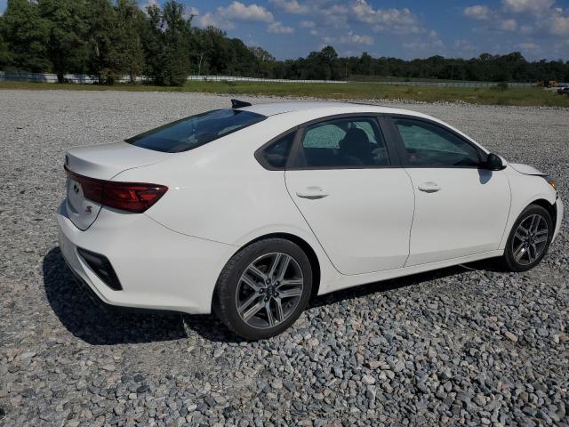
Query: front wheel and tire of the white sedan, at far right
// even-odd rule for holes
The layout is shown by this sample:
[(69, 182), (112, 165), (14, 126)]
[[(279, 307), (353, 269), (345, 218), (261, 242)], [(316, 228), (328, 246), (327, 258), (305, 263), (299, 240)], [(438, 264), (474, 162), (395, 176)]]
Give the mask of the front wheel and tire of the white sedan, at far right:
[(501, 265), (510, 271), (533, 269), (547, 254), (554, 225), (549, 212), (540, 205), (529, 205), (509, 232)]

